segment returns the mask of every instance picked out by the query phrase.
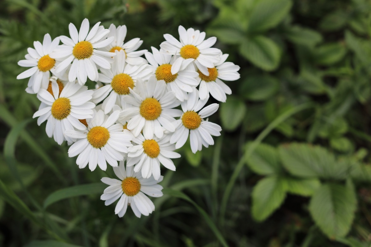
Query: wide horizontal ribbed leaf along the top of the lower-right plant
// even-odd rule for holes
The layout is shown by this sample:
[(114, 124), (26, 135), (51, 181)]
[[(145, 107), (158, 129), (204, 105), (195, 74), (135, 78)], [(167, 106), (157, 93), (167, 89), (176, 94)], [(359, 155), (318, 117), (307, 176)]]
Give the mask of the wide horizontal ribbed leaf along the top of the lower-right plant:
[(283, 144), (279, 147), (283, 166), (290, 174), (303, 178), (344, 179), (349, 163), (336, 161), (325, 148), (311, 144)]

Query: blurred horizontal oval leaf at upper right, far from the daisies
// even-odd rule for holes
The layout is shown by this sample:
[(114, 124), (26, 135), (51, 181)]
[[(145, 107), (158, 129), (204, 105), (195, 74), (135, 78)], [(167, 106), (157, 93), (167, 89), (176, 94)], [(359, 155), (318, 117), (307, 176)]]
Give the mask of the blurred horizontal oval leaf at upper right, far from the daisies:
[(306, 46), (315, 46), (322, 41), (322, 36), (315, 30), (301, 27), (291, 26), (285, 32), (286, 39), (295, 44), (302, 44)]

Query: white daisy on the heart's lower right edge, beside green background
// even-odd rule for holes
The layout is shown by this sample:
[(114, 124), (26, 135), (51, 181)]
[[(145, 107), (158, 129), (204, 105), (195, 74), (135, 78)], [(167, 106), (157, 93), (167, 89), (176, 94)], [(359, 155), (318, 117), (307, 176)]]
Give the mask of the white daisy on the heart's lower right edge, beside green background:
[[(202, 146), (209, 147), (209, 145), (214, 145), (214, 140), (211, 136), (220, 136), (221, 127), (207, 120), (204, 121), (204, 118), (215, 113), (219, 108), (219, 104), (214, 103), (201, 110), (208, 99), (209, 96), (204, 100), (198, 99), (198, 90), (194, 89), (189, 94), (188, 101), (182, 102), (181, 107), (184, 113), (179, 120), (174, 122), (176, 130), (170, 138), (170, 143), (176, 143), (175, 148), (178, 149), (184, 145), (188, 139), (188, 134), (190, 134), (193, 153), (196, 153), (197, 150), (201, 151)], [(197, 113), (197, 111), (200, 112)]]

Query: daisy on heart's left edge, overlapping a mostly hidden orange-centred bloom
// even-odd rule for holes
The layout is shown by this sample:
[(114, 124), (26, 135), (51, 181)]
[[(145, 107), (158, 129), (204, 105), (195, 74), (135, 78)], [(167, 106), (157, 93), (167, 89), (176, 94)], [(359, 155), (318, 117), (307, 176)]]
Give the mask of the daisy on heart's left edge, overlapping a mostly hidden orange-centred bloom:
[(39, 110), (33, 114), (33, 118), (39, 117), (39, 125), (47, 120), (46, 134), (49, 137), (54, 136), (59, 145), (63, 140), (73, 141), (73, 138), (63, 136), (64, 131), (74, 130), (74, 127), (85, 130), (86, 127), (79, 119), (91, 117), (95, 107), (94, 103), (89, 102), (93, 91), (88, 90), (88, 87), (70, 82), (64, 87), (62, 85), (52, 78), (51, 91), (40, 89), (37, 99), (42, 103)]

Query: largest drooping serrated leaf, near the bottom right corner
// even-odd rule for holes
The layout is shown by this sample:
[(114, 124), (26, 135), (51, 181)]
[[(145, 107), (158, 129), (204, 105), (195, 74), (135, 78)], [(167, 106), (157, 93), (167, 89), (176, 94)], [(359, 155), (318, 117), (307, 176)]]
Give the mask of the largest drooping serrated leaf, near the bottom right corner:
[(326, 183), (312, 196), (309, 212), (315, 223), (331, 239), (344, 237), (350, 230), (357, 206), (354, 187)]

